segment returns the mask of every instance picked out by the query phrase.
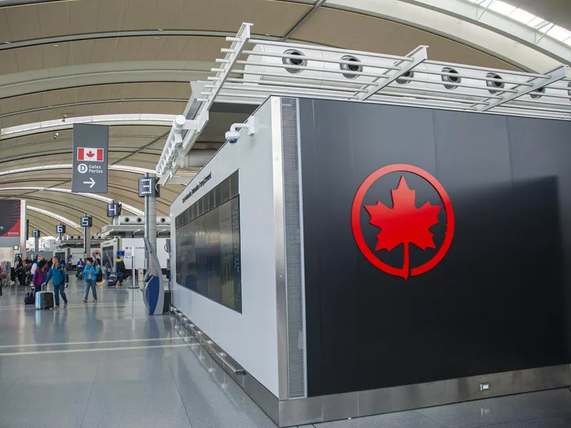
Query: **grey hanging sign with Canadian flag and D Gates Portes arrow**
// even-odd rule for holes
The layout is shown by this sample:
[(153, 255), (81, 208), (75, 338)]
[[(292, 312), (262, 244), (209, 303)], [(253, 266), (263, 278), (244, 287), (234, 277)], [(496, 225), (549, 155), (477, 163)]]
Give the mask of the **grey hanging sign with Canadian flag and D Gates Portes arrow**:
[(109, 127), (74, 123), (73, 193), (107, 193)]

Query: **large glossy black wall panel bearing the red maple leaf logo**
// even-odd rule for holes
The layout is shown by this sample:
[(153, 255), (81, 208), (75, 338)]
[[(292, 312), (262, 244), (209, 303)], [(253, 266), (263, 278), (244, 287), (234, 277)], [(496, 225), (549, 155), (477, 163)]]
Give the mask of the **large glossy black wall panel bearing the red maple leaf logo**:
[(571, 362), (570, 123), (301, 100), (300, 128), (310, 397)]

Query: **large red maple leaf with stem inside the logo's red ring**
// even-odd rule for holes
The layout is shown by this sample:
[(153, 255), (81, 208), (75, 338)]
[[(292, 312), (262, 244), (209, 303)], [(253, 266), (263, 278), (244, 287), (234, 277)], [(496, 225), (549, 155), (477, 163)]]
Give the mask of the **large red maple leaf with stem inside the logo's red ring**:
[(403, 175), (398, 187), (390, 190), (393, 208), (388, 208), (380, 201), (377, 205), (365, 205), (370, 215), (370, 224), (380, 228), (375, 250), (393, 250), (400, 244), (405, 246), (405, 263), (402, 276), (408, 278), (410, 271), (409, 245), (414, 244), (422, 250), (436, 248), (434, 235), (430, 228), (438, 223), (440, 206), (425, 203), (416, 208), (416, 191), (410, 190)]

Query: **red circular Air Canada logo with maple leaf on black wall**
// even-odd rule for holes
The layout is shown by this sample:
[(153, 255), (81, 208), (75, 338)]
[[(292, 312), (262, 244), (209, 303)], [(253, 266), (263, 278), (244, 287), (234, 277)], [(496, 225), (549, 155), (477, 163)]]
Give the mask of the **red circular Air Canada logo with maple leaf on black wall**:
[[(365, 196), (368, 195), (371, 186), (380, 178), (392, 173), (401, 173), (397, 187), (386, 190), (387, 192), (390, 191), (392, 207), (379, 200), (373, 205), (365, 204)], [(418, 175), (428, 182), (438, 193), (441, 205), (433, 205), (428, 200), (418, 200), (416, 190), (409, 187), (403, 173)], [(380, 197), (379, 195), (375, 196)], [(363, 225), (361, 224), (363, 210), (367, 214), (370, 225), (377, 228), (376, 230), (380, 230), (380, 233), (376, 235), (374, 251), (363, 235)], [(439, 220), (441, 210), (445, 213), (445, 220)], [(443, 216), (440, 215), (440, 218)], [(440, 222), (445, 222), (445, 235), (439, 248), (437, 248), (434, 234), (430, 228)], [(388, 165), (369, 175), (357, 190), (351, 210), (351, 227), (359, 250), (370, 263), (383, 272), (407, 279), (410, 276), (428, 272), (443, 260), (454, 235), (454, 212), (448, 193), (433, 175), (413, 165)], [(423, 264), (418, 265), (417, 263), (415, 265), (415, 260), (410, 258), (411, 245), (420, 248), (420, 250), (434, 249), (435, 255), (430, 260), (424, 261)], [(380, 255), (384, 251), (398, 250), (403, 251), (404, 255), (402, 267), (389, 265), (381, 260)]]

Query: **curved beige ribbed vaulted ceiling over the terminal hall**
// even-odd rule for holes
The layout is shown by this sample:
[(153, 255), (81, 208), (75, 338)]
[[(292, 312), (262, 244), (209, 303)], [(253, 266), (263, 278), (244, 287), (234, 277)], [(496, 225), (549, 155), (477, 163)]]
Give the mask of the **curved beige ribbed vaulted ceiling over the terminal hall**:
[[(26, 3), (26, 0), (17, 1)], [(546, 3), (555, 1), (558, 0)], [(312, 10), (313, 1), (75, 0), (33, 1), (23, 6), (2, 6), (0, 1), (0, 128), (59, 121), (64, 116), (181, 113), (191, 93), (188, 82), (206, 79), (215, 66), (214, 59), (221, 56), (220, 49), (228, 47), (225, 33), (234, 34), (244, 21), (252, 22), (253, 31), (266, 37), (287, 35), (302, 42), (384, 54), (407, 54), (418, 45), (428, 44), (430, 58), (441, 61), (492, 68), (533, 68), (534, 64), (548, 62), (547, 56), (530, 46), (513, 46), (509, 36), (495, 34), (507, 41), (498, 47), (501, 54), (495, 54), (476, 37), (482, 32), (470, 30), (463, 37), (455, 36), (460, 24), (468, 23), (444, 25), (442, 16), (434, 23), (423, 19), (429, 12), (434, 14), (433, 10), (425, 9), (420, 19), (388, 16), (397, 7), (412, 8), (417, 3), (421, 2), (329, 0), (323, 7), (313, 9), (308, 19), (299, 24)], [(433, 30), (431, 24), (446, 28)], [(468, 25), (462, 28), (467, 29)], [(186, 33), (176, 34), (176, 31)], [(197, 35), (196, 31), (203, 33)], [(519, 53), (518, 48), (521, 48)], [(506, 54), (509, 52), (516, 54), (510, 57)], [(231, 123), (247, 117), (248, 113), (237, 111), (212, 113), (194, 150), (218, 148)], [(154, 170), (169, 130), (170, 126), (142, 123), (111, 126), (109, 163)], [(71, 163), (71, 129), (58, 129), (56, 139), (55, 132), (51, 128), (27, 136), (3, 136), (0, 172)], [(101, 198), (115, 198), (142, 210), (136, 174), (117, 170), (109, 171), (110, 193), (98, 199), (51, 190), (1, 189), (45, 186), (69, 189), (70, 172), (69, 169), (29, 170), (0, 175), (0, 198), (26, 198), (37, 208), (71, 220), (87, 212), (94, 215), (97, 228), (108, 223), (106, 202)], [(181, 186), (161, 190), (158, 214), (165, 215)], [(34, 214), (34, 222), (51, 229), (57, 223), (38, 213)]]

